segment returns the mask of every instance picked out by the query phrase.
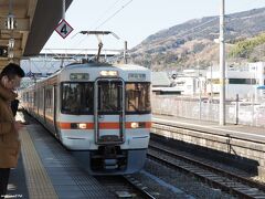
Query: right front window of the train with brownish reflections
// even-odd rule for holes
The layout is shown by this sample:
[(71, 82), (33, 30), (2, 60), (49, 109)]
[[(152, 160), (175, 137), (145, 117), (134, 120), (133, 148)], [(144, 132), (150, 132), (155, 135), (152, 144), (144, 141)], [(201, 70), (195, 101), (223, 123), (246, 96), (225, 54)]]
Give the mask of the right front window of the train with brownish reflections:
[(150, 83), (126, 84), (126, 112), (150, 113)]

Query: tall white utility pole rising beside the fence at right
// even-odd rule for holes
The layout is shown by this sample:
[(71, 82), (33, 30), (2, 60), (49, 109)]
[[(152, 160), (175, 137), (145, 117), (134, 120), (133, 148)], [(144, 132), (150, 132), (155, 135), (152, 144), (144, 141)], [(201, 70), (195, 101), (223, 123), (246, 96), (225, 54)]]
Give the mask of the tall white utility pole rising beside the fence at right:
[(225, 125), (225, 46), (224, 46), (224, 0), (221, 0), (220, 9), (220, 100), (219, 125)]

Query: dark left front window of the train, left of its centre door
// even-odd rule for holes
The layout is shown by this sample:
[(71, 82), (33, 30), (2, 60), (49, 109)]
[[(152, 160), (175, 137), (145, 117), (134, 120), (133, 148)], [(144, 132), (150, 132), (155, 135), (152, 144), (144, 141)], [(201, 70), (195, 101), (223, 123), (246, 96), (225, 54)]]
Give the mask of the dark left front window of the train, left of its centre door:
[(63, 83), (62, 113), (93, 114), (93, 83)]

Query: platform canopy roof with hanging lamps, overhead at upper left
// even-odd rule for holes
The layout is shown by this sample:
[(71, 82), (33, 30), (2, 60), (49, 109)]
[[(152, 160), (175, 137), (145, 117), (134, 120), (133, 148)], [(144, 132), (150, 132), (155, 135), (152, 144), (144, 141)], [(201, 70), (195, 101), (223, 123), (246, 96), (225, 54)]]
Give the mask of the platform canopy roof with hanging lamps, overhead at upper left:
[[(73, 0), (65, 0), (67, 9)], [(38, 55), (62, 17), (63, 0), (0, 0), (0, 71)]]

